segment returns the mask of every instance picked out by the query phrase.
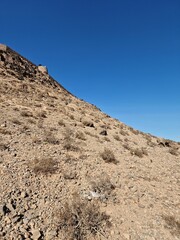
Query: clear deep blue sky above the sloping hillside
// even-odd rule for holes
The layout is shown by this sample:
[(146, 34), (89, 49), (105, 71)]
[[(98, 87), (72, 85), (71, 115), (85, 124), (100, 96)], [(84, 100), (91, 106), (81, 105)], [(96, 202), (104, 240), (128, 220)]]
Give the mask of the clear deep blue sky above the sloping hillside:
[(180, 141), (179, 0), (1, 0), (0, 42), (128, 125)]

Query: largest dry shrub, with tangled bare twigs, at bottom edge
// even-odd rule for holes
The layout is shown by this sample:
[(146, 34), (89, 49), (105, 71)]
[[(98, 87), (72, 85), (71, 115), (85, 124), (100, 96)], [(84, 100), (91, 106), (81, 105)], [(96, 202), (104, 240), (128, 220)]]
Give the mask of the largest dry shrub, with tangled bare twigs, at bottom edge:
[[(109, 216), (100, 211), (97, 203), (81, 200), (78, 196), (66, 202), (55, 215), (61, 239), (88, 240), (102, 235), (111, 226)], [(60, 236), (59, 236), (60, 237)]]

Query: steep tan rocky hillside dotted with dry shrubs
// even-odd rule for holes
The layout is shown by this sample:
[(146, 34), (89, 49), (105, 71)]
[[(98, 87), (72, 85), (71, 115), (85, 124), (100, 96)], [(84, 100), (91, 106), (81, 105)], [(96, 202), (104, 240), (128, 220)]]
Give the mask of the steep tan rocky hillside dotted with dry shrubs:
[(180, 239), (179, 148), (0, 45), (0, 239)]

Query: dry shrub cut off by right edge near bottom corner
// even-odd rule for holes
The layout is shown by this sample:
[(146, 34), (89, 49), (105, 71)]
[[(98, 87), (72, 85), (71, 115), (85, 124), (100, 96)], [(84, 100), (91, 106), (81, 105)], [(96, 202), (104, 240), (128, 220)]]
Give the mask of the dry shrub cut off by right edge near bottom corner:
[(180, 221), (174, 216), (163, 216), (163, 219), (166, 223), (165, 227), (170, 229), (171, 234), (180, 237)]

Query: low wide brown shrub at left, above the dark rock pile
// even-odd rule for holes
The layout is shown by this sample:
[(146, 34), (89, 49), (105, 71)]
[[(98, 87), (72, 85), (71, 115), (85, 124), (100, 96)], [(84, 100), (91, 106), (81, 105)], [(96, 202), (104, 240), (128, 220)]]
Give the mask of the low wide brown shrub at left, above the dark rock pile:
[(52, 174), (57, 171), (57, 161), (53, 158), (35, 159), (31, 167), (35, 173)]

